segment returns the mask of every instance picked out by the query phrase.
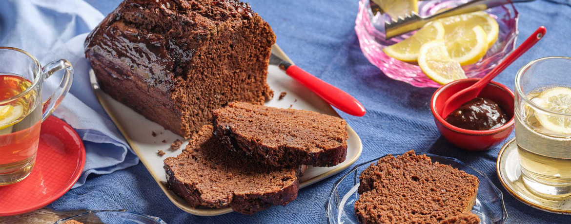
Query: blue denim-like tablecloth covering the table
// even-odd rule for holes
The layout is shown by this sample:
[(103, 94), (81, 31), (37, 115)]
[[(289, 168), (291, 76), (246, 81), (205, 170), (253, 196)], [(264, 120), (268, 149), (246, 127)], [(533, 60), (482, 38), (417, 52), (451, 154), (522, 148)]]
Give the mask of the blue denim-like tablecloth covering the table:
[[(389, 79), (365, 59), (354, 31), (357, 0), (249, 1), (270, 23), (278, 36), (278, 44), (298, 66), (351, 93), (367, 108), (364, 117), (340, 113), (363, 141), (363, 154), (357, 164), (409, 149), (456, 157), (482, 170), (502, 190), (508, 223), (571, 223), (571, 216), (533, 209), (504, 190), (496, 176), (500, 146), (488, 152), (466, 152), (443, 139), (429, 108), (434, 88), (415, 88)], [(117, 0), (87, 2), (103, 15), (119, 3)], [(541, 25), (548, 28), (548, 33), (496, 78), (509, 87), (514, 85), (518, 68), (530, 60), (571, 54), (569, 0), (537, 0), (520, 3), (517, 9), (521, 13), (521, 37)], [(522, 39), (518, 39), (518, 43)], [(49, 207), (55, 210), (127, 209), (158, 216), (168, 223), (325, 223), (323, 203), (333, 182), (347, 171), (300, 190), (297, 199), (286, 207), (272, 207), (254, 215), (230, 213), (198, 217), (185, 213), (168, 201), (142, 164), (107, 175), (90, 176), (85, 185), (71, 190)]]

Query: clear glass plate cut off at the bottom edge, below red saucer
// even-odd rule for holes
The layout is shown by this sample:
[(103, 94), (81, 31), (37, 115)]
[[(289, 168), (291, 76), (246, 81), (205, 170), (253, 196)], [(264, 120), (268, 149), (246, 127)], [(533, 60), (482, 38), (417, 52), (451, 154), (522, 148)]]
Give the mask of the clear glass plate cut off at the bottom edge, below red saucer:
[(127, 210), (90, 210), (79, 215), (59, 219), (54, 224), (63, 224), (70, 220), (75, 220), (84, 224), (167, 224), (159, 217), (143, 215)]

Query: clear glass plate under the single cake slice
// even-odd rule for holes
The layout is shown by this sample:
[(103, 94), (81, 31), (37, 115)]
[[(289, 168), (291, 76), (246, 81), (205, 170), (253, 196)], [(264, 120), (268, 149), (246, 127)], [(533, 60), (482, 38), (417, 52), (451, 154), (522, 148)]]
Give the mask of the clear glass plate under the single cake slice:
[[(476, 204), (472, 207), (472, 213), (480, 217), (482, 224), (501, 224), (508, 218), (508, 213), (504, 206), (504, 196), (500, 189), (496, 188), (492, 181), (486, 174), (480, 170), (476, 170), (471, 166), (463, 164), (460, 160), (451, 157), (436, 156), (429, 153), (426, 154), (431, 158), (432, 162), (439, 162), (440, 164), (451, 165), (453, 168), (464, 170), (464, 172), (476, 176), (480, 180), (478, 185), (478, 195), (476, 197)], [(400, 156), (401, 154), (393, 154), (393, 156)], [(389, 156), (389, 155), (385, 155)], [(356, 165), (349, 173), (341, 177), (333, 185), (331, 194), (325, 202), (325, 216), (327, 223), (359, 223), (355, 216), (355, 201), (359, 199), (357, 188), (359, 188), (359, 176), (363, 170), (367, 169), (372, 162), (377, 162), (380, 158), (364, 162), (363, 164)]]

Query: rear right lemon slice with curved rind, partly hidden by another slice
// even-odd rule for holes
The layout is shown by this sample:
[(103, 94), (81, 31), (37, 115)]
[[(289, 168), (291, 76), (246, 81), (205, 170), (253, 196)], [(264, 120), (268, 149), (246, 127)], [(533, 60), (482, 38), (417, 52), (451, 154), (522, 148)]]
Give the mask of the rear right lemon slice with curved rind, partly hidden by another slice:
[(500, 32), (496, 19), (483, 11), (455, 15), (453, 17), (440, 19), (439, 21), (444, 25), (444, 30), (447, 33), (455, 31), (459, 26), (464, 28), (473, 28), (475, 26), (482, 27), (484, 31), (486, 31), (488, 48), (492, 47), (494, 43), (496, 43)]

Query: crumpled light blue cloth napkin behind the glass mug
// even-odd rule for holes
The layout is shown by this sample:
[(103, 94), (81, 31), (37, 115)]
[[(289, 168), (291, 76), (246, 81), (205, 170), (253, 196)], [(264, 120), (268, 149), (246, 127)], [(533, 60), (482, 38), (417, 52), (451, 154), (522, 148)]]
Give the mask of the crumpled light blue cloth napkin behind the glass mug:
[[(85, 184), (89, 174), (108, 174), (136, 165), (139, 158), (131, 152), (118, 129), (96, 99), (89, 82), (91, 66), (83, 53), (87, 34), (104, 16), (84, 1), (1, 1), (0, 45), (17, 47), (47, 64), (67, 59), (74, 68), (70, 93), (54, 115), (74, 127), (83, 139), (86, 162), (74, 188)], [(51, 94), (61, 74), (44, 84), (44, 96)]]

